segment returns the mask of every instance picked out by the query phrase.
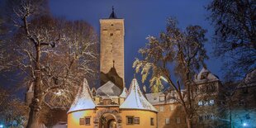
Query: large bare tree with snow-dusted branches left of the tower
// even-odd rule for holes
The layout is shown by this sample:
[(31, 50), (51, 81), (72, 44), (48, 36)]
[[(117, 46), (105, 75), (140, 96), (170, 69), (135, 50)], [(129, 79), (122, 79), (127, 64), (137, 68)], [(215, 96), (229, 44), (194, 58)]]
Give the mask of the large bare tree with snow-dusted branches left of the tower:
[[(94, 75), (97, 67), (97, 36), (84, 21), (66, 21), (47, 14), (45, 1), (13, 1), (12, 21), (17, 30), (9, 43), (13, 66), (25, 75), (26, 83), (33, 84), (27, 128), (40, 123), (43, 102), (69, 105), (75, 86), (81, 79)], [(30, 85), (30, 84), (26, 84)]]

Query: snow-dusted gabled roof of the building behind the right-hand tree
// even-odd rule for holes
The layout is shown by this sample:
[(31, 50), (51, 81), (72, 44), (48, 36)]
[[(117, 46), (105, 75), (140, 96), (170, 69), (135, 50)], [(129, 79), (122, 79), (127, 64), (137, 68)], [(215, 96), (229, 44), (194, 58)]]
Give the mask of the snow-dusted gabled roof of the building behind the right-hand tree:
[(212, 74), (208, 69), (202, 68), (201, 71), (195, 77), (195, 83), (205, 83), (218, 81), (219, 78)]

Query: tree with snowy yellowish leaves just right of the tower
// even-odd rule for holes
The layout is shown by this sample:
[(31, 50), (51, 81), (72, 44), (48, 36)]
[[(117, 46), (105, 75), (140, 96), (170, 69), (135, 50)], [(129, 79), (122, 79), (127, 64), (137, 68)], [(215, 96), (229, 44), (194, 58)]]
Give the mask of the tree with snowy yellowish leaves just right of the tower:
[[(149, 36), (149, 43), (140, 49), (142, 59), (136, 59), (133, 67), (142, 75), (142, 81), (150, 77), (150, 87), (153, 92), (161, 91), (165, 83), (178, 93), (178, 102), (183, 106), (186, 114), (187, 127), (192, 127), (192, 117), (195, 110), (195, 88), (193, 88), (193, 76), (203, 60), (207, 59), (204, 43), (206, 42), (206, 30), (201, 26), (187, 26), (186, 31), (178, 28), (178, 21), (170, 18), (166, 32), (161, 32), (159, 38)], [(171, 75), (174, 72), (180, 78), (173, 82)], [(149, 75), (149, 73), (151, 73)], [(182, 88), (185, 88), (182, 91)]]

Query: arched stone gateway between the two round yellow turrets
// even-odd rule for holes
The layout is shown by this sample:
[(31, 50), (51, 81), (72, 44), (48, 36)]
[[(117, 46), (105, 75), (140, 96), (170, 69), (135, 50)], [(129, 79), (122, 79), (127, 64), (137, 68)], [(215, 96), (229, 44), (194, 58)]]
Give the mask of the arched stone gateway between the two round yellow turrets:
[(121, 116), (116, 109), (102, 109), (94, 117), (94, 128), (121, 128)]

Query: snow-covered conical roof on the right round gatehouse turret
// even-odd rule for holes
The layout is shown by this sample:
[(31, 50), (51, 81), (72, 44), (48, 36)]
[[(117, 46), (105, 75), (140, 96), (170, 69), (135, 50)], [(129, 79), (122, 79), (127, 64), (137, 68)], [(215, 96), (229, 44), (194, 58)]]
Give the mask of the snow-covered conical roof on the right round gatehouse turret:
[(130, 83), (129, 94), (126, 97), (126, 100), (121, 104), (121, 109), (140, 109), (140, 110), (157, 110), (148, 102), (140, 91), (139, 84), (134, 78)]

